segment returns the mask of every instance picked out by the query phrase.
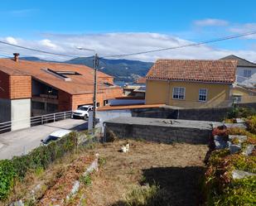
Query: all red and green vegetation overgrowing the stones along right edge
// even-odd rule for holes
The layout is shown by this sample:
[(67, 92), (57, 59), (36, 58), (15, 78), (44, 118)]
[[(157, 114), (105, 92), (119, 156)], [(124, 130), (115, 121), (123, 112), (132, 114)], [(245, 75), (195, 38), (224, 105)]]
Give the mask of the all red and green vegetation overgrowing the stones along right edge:
[[(256, 115), (254, 110), (247, 108), (234, 108), (229, 117), (244, 117), (247, 129), (232, 127), (215, 128), (213, 136), (218, 135), (225, 140), (229, 135), (247, 136), (242, 143), (242, 150), (230, 154), (229, 149), (213, 151), (208, 160), (208, 169), (205, 172), (203, 191), (206, 205), (256, 205), (256, 176), (233, 179), (234, 170), (256, 173)], [(239, 139), (234, 137), (231, 141), (239, 144)], [(254, 145), (254, 151), (245, 156), (243, 151), (248, 145)]]

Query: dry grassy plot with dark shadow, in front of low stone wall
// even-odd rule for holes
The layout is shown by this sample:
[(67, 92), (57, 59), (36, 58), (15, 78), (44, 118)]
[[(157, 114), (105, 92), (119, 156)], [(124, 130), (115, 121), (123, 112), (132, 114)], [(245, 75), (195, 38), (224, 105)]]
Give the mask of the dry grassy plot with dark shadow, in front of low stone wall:
[(165, 189), (169, 205), (199, 204), (207, 146), (128, 140), (128, 153), (119, 152), (126, 142), (114, 141), (91, 151), (104, 156), (106, 164), (92, 175), (92, 184), (85, 189), (86, 205), (125, 205), (127, 194), (142, 184)]

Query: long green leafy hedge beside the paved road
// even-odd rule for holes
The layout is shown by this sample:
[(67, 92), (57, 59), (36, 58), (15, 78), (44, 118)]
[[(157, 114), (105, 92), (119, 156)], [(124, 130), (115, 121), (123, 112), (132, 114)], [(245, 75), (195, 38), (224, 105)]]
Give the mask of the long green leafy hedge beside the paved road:
[(77, 146), (75, 132), (46, 146), (39, 146), (26, 156), (15, 156), (12, 160), (0, 160), (0, 200), (7, 199), (15, 180), (23, 180), (28, 170), (46, 169), (55, 160), (72, 152)]

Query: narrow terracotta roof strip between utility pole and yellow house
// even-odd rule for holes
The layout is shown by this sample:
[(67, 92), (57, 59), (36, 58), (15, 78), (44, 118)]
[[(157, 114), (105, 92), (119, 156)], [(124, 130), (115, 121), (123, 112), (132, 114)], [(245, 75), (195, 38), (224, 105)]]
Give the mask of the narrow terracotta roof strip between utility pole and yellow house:
[(119, 109), (132, 109), (132, 108), (160, 108), (166, 104), (133, 104), (133, 105), (118, 105), (118, 106), (104, 106), (98, 108), (97, 111), (119, 110)]

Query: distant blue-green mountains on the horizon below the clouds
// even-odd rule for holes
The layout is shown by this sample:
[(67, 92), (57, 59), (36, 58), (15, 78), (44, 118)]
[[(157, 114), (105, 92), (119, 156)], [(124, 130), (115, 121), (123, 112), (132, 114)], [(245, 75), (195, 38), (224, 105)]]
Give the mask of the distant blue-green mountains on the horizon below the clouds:
[[(22, 57), (22, 60), (32, 61), (46, 61), (36, 57)], [(94, 57), (79, 57), (72, 60), (67, 60), (61, 63), (73, 64), (73, 65), (87, 65), (94, 67)], [(145, 76), (147, 71), (152, 67), (152, 62), (144, 62), (140, 60), (99, 60), (99, 70), (105, 74), (114, 76), (115, 81), (121, 82), (133, 82), (141, 76)]]

